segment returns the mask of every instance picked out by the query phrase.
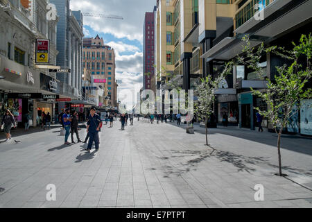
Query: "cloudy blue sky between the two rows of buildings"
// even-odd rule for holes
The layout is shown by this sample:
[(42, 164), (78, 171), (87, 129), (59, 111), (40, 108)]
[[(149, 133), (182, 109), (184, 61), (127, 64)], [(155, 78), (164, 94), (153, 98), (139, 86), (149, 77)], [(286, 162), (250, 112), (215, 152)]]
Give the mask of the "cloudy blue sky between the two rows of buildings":
[(118, 94), (127, 108), (132, 101), (125, 94), (142, 87), (143, 78), (143, 23), (145, 12), (153, 11), (156, 0), (72, 0), (71, 10), (119, 15), (123, 20), (101, 17), (84, 17), (85, 37), (103, 37), (104, 43), (116, 53), (116, 80)]

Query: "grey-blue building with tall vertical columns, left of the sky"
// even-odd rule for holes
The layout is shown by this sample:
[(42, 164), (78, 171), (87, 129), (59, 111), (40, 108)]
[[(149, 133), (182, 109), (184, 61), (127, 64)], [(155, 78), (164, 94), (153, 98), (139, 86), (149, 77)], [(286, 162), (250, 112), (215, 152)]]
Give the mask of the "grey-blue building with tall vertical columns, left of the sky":
[(58, 12), (56, 65), (71, 69), (70, 73), (58, 73), (58, 80), (73, 87), (76, 97), (80, 97), (82, 87), (83, 15), (71, 11), (69, 0), (51, 0)]

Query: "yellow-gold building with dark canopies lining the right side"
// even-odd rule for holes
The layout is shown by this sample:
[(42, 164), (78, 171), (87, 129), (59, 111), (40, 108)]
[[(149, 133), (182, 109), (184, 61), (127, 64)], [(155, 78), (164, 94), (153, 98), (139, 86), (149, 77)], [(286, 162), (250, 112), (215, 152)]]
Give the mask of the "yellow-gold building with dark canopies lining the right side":
[[(251, 46), (263, 42), (291, 49), (292, 41), (297, 42), (300, 35), (311, 30), (311, 7), (309, 0), (157, 0), (155, 63), (157, 70), (166, 69), (157, 86), (170, 89), (167, 83), (171, 81), (194, 89), (201, 77), (218, 76), (226, 62), (242, 53), (245, 33), (250, 35)], [(230, 125), (253, 130), (254, 107), (268, 107), (252, 95), (250, 87), (265, 90), (267, 80), (274, 80), (278, 74), (275, 67), (284, 64), (289, 65), (274, 53), (263, 53), (259, 64), (263, 76), (244, 65), (233, 67), (222, 89), (216, 91), (216, 122), (221, 123), (226, 114)], [(175, 77), (170, 79), (168, 73)], [(311, 85), (310, 81), (308, 87)], [(299, 126), (298, 119), (291, 125)], [(312, 134), (311, 126), (300, 121), (304, 134)], [(267, 120), (263, 127), (272, 129)], [(299, 132), (296, 127), (286, 130)]]

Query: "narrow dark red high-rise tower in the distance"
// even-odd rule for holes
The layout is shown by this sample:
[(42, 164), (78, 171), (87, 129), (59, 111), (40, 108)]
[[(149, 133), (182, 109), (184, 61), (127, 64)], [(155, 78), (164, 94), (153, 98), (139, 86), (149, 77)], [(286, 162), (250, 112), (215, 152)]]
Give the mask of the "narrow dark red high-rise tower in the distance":
[(143, 89), (152, 89), (155, 92), (155, 12), (146, 12), (143, 25)]

